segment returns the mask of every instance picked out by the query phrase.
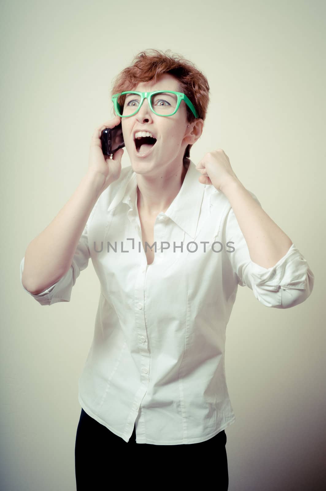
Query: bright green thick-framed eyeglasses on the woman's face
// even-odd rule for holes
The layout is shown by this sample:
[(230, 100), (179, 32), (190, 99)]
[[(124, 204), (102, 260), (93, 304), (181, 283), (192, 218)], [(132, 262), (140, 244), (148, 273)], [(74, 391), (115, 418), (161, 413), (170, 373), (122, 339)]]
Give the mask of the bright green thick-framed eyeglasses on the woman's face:
[(194, 117), (198, 117), (196, 109), (186, 94), (175, 92), (174, 90), (156, 90), (155, 92), (129, 90), (119, 92), (112, 96), (115, 113), (122, 118), (134, 116), (139, 111), (144, 99), (148, 100), (149, 107), (158, 116), (173, 116), (177, 112), (181, 101), (184, 100)]

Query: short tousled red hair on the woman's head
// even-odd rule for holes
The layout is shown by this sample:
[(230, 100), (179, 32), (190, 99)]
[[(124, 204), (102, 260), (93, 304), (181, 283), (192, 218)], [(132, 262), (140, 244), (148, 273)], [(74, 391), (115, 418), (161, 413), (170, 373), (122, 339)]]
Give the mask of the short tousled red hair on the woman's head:
[[(113, 80), (111, 95), (125, 90), (133, 90), (139, 82), (149, 82), (157, 79), (164, 73), (173, 75), (179, 81), (179, 92), (189, 97), (198, 113), (198, 118), (205, 121), (209, 104), (209, 84), (206, 77), (188, 59), (179, 54), (168, 55), (160, 50), (148, 49), (138, 53), (130, 66), (124, 68)], [(187, 122), (192, 123), (195, 117), (190, 108), (187, 108)], [(184, 159), (190, 157), (188, 145)]]

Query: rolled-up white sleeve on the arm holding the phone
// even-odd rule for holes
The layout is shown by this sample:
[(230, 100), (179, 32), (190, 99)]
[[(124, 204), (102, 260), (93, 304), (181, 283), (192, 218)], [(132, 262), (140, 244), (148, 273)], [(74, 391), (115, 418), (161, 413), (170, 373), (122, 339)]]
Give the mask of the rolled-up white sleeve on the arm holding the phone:
[(88, 266), (90, 258), (90, 251), (88, 247), (87, 238), (87, 223), (81, 234), (78, 246), (76, 248), (72, 264), (70, 269), (65, 273), (56, 283), (44, 290), (44, 292), (34, 295), (30, 293), (22, 283), (22, 276), (24, 271), (25, 256), (20, 263), (20, 279), (23, 289), (41, 305), (52, 305), (57, 302), (69, 302), (71, 297), (71, 291), (76, 283), (76, 279), (80, 275), (81, 271)]

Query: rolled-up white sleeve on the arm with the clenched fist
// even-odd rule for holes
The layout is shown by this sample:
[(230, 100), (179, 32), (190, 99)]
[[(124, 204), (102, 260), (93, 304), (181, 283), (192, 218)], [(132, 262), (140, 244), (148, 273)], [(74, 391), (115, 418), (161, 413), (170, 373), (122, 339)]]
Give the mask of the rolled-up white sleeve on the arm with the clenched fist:
[[(260, 204), (256, 196), (249, 191)], [(231, 208), (226, 220), (225, 240), (235, 250), (228, 252), (232, 269), (240, 286), (248, 286), (257, 300), (267, 307), (289, 308), (302, 303), (311, 294), (314, 274), (299, 249), (292, 244), (286, 254), (271, 268), (251, 261), (245, 237)]]

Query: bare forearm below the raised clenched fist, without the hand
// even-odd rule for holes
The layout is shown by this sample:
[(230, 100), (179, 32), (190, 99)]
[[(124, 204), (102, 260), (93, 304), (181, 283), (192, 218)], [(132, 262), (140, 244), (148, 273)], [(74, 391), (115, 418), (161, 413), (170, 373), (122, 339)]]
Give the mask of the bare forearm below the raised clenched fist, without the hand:
[[(245, 237), (251, 261), (272, 268), (292, 246), (291, 239), (279, 228), (250, 195), (243, 184), (230, 178), (221, 191), (231, 207)], [(234, 247), (237, 247), (234, 244)]]

